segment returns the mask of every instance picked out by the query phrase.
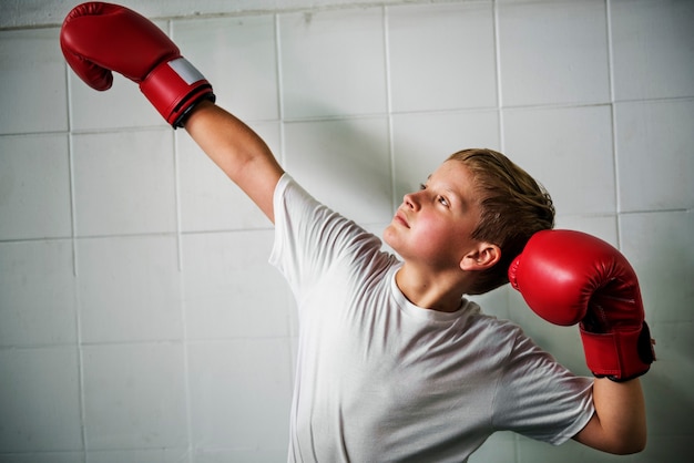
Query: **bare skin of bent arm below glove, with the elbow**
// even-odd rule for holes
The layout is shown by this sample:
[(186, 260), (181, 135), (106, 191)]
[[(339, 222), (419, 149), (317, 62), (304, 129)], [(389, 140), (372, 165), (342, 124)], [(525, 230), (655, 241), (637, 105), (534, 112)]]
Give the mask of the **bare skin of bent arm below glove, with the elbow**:
[(629, 454), (646, 443), (646, 416), (641, 381), (614, 382), (596, 379), (593, 383), (595, 414), (575, 440), (604, 452)]

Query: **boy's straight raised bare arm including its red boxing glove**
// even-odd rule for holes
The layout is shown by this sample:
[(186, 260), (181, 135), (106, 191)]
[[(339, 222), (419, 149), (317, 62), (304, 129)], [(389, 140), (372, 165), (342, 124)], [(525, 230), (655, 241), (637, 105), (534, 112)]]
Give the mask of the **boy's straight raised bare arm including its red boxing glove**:
[(283, 174), (267, 145), (244, 123), (213, 104), (207, 80), (152, 21), (118, 4), (82, 3), (70, 11), (60, 45), (91, 88), (111, 88), (112, 71), (140, 90), (174, 127), (186, 131), (274, 222), (273, 194)]

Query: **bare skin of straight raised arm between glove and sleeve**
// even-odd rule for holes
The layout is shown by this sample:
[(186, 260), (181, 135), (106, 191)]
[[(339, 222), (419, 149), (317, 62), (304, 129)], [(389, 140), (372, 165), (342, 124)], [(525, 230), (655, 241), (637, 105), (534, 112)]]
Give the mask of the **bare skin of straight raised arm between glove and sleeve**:
[(274, 222), (273, 193), (284, 171), (265, 142), (242, 121), (210, 102), (195, 107), (185, 130)]

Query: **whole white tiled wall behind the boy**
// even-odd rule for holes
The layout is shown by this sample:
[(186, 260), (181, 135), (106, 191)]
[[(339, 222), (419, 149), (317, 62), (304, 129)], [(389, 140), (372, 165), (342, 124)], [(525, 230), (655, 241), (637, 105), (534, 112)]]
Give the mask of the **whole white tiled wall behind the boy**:
[[(136, 85), (116, 76), (98, 93), (67, 69), (72, 4), (22, 23), (38, 3), (13, 3), (0, 30), (0, 462), (284, 461), (296, 323), (267, 264), (269, 224)], [(646, 451), (501, 433), (471, 462), (690, 461), (694, 1), (172, 11), (183, 3), (127, 2), (296, 178), (367, 228), (445, 156), (488, 146), (550, 189), (559, 227), (634, 265), (660, 357), (643, 378)], [(575, 328), (508, 288), (480, 301), (586, 372)]]

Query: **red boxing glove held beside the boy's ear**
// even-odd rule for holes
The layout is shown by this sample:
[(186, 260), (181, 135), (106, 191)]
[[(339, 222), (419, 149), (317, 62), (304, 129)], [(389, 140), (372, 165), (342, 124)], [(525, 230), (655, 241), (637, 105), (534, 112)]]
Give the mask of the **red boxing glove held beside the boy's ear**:
[(626, 381), (655, 360), (636, 274), (608, 243), (580, 232), (538, 232), (509, 267), (509, 280), (547, 321), (580, 322), (594, 375)]

